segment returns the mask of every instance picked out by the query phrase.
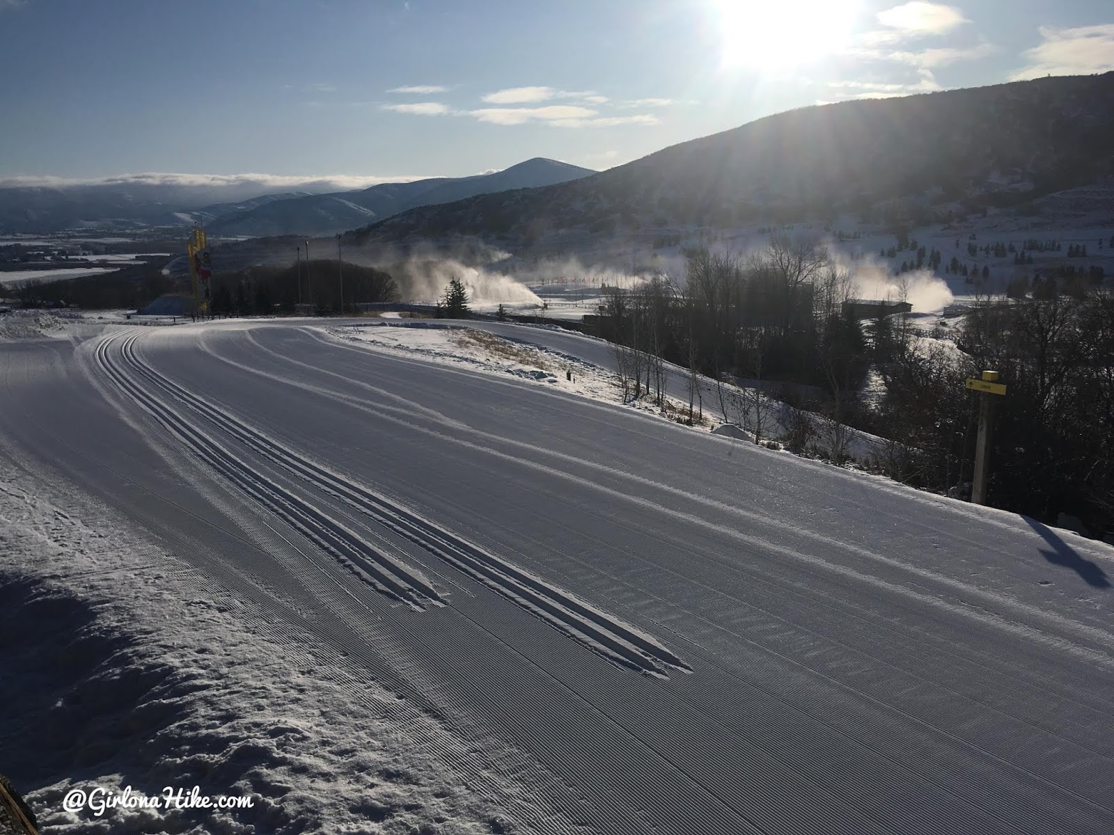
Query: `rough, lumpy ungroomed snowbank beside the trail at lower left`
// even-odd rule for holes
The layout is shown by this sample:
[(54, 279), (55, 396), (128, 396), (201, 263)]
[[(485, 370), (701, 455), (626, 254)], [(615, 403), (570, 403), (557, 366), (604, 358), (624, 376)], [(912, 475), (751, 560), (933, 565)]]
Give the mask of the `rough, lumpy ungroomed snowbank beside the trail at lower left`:
[[(468, 754), (434, 719), (0, 462), (0, 750), (43, 832), (518, 831), (446, 765)], [(63, 808), (128, 786), (253, 805)]]

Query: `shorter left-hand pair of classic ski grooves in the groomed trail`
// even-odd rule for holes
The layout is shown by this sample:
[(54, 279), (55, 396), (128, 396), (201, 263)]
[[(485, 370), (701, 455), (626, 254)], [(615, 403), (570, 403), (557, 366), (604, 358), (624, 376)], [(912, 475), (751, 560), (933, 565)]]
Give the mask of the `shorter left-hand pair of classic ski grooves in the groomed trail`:
[[(125, 357), (128, 356), (130, 345), (136, 338), (138, 334), (123, 340), (120, 347)], [(159, 403), (143, 386), (133, 384), (109, 357), (109, 347), (115, 341), (109, 337), (97, 346), (96, 356), (102, 371), (121, 391), (187, 444), (209, 466), (380, 592), (417, 609), (443, 602), (438, 591), (420, 573), (405, 570), (354, 531), (251, 468), (219, 442), (205, 438), (188, 422)]]

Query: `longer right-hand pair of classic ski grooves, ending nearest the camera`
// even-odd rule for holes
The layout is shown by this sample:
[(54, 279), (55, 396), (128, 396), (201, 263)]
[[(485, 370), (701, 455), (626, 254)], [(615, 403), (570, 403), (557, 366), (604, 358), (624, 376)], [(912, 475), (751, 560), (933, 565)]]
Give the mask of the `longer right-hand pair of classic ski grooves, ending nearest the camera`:
[[(368, 488), (283, 449), (262, 432), (159, 375), (136, 355), (134, 343), (138, 337), (138, 334), (128, 337), (121, 346), (123, 355), (133, 367), (246, 446), (314, 487), (360, 509), (383, 527), (494, 588), (589, 648), (596, 651), (603, 649), (614, 660), (647, 675), (664, 676), (663, 667), (691, 671), (683, 659), (634, 627), (618, 621), (614, 616), (577, 599), (564, 589), (545, 582), (514, 563), (466, 542)], [(246, 464), (242, 462), (240, 466), (246, 469)], [(334, 524), (340, 527), (339, 523)], [(437, 595), (432, 587), (428, 587), (427, 593)]]

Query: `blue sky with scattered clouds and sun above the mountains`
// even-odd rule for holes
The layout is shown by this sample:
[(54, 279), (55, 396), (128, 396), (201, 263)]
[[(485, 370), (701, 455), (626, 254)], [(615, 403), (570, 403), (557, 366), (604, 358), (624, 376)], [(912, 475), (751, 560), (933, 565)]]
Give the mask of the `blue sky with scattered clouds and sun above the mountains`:
[(0, 181), (608, 168), (793, 107), (1114, 69), (1110, 0), (0, 0)]

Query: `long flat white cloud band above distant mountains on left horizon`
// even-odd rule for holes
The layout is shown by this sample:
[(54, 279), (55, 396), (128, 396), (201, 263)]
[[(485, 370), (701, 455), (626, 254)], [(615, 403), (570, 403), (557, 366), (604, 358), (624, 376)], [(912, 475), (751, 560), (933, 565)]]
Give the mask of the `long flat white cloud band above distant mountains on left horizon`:
[(0, 179), (0, 188), (67, 188), (70, 186), (175, 186), (179, 188), (367, 188), (380, 183), (410, 183), (428, 175), (363, 176), (350, 174), (280, 175), (280, 174), (170, 174), (148, 171), (120, 174), (113, 177), (16, 176)]

